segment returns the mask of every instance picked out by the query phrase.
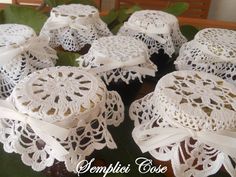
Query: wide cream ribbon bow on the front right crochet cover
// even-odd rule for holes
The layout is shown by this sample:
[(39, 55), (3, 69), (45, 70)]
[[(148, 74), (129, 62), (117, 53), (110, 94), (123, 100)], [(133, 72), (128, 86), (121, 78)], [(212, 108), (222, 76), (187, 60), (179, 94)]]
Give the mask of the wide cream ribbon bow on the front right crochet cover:
[(194, 131), (185, 127), (154, 127), (141, 130), (145, 127), (141, 124), (132, 132), (135, 142), (143, 153), (155, 150), (159, 147), (180, 143), (186, 138), (192, 137), (208, 146), (211, 146), (227, 155), (236, 158), (236, 132), (232, 131)]

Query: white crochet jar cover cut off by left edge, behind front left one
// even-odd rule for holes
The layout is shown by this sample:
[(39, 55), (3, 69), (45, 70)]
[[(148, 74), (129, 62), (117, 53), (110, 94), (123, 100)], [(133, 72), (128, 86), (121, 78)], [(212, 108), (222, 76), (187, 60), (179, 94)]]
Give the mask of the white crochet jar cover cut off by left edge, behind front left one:
[(0, 25), (0, 99), (10, 95), (14, 86), (31, 72), (54, 66), (56, 51), (48, 40), (37, 37), (24, 25)]

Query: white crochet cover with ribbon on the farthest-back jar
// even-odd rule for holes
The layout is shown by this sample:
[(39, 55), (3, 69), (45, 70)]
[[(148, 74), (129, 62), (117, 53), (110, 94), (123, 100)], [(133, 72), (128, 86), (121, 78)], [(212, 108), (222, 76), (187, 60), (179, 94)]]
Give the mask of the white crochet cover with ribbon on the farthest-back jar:
[(51, 15), (41, 35), (50, 37), (50, 46), (62, 46), (68, 51), (79, 51), (86, 44), (112, 33), (100, 19), (95, 7), (81, 4), (61, 5)]

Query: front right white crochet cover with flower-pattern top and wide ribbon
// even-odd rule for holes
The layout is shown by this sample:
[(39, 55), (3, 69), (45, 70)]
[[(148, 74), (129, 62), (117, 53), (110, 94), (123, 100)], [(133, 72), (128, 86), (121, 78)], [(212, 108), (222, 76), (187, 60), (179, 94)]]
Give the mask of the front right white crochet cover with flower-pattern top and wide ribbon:
[[(153, 93), (135, 101), (133, 138), (143, 152), (171, 161), (178, 177), (236, 175), (236, 88), (204, 72), (164, 76)], [(230, 155), (229, 155), (230, 154)]]

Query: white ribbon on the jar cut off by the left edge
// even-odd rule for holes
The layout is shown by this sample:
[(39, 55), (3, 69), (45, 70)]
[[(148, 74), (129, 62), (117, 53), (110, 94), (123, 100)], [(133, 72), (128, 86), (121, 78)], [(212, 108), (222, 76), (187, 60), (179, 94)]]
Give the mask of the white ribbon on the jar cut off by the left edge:
[[(46, 37), (32, 37), (28, 39), (25, 44), (12, 45), (0, 48), (0, 65), (7, 64), (10, 60), (17, 57), (18, 55), (28, 51), (32, 53), (38, 53), (39, 55), (47, 53), (51, 58), (55, 58), (55, 53), (48, 53), (46, 48), (48, 48), (49, 39)], [(53, 51), (53, 50), (52, 50)]]

